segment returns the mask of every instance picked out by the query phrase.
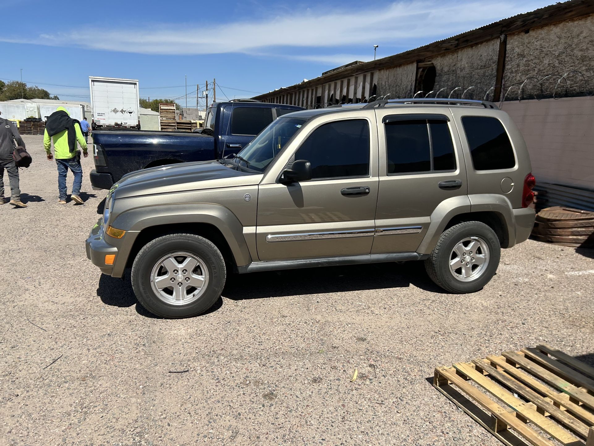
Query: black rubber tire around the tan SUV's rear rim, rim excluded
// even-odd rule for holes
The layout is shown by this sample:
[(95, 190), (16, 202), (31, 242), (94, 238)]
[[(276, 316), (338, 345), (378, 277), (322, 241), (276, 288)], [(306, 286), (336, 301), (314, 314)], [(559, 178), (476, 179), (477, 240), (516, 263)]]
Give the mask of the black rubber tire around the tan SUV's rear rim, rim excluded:
[[(465, 225), (458, 230), (448, 234), (445, 243), (441, 246), (438, 260), (438, 270), (441, 279), (447, 284), (447, 288), (453, 293), (473, 293), (481, 290), (489, 283), (495, 275), (499, 266), (501, 256), (501, 247), (499, 239), (494, 231), (487, 225), (476, 223), (472, 226)], [(466, 237), (481, 237), (489, 246), (489, 263), (485, 272), (472, 282), (463, 282), (456, 279), (450, 272), (450, 255), (454, 247)]]

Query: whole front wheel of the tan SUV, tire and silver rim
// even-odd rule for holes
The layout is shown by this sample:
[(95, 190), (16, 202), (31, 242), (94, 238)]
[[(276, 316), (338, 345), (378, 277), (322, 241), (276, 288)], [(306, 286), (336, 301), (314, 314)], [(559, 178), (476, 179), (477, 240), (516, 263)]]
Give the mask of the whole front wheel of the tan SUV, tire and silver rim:
[(225, 260), (210, 240), (194, 234), (169, 234), (155, 238), (138, 252), (131, 281), (145, 309), (162, 318), (178, 319), (200, 315), (213, 306), (223, 291), (226, 274)]

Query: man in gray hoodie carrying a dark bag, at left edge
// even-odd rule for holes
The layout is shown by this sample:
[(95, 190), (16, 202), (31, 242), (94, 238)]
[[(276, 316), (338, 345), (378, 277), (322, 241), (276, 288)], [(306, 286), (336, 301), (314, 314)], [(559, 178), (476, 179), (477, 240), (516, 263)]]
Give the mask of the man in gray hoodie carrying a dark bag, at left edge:
[(17, 208), (26, 208), (27, 205), (21, 202), (21, 190), (18, 189), (18, 168), (12, 159), (14, 151), (14, 142), (17, 145), (25, 147), (23, 138), (18, 133), (17, 127), (12, 123), (2, 119), (0, 116), (0, 205), (4, 205), (4, 170), (7, 171), (10, 181), (10, 204)]

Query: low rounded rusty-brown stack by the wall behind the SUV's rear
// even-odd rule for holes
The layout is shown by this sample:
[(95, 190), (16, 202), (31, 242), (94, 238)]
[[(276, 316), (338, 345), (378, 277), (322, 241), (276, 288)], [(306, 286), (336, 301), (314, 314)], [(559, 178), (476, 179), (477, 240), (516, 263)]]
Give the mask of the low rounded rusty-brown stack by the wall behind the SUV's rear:
[(542, 209), (532, 235), (548, 243), (594, 248), (594, 212), (562, 206)]

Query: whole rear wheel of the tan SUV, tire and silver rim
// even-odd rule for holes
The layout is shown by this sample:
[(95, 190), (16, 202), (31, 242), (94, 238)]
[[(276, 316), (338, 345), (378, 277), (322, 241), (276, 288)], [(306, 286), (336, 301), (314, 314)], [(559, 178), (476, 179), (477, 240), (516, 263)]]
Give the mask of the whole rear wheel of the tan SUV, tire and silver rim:
[[(465, 246), (478, 246), (478, 249), (475, 248), (477, 250), (472, 252), (464, 249)], [(464, 252), (457, 252), (459, 249)], [(484, 223), (467, 221), (449, 228), (440, 235), (435, 248), (425, 260), (425, 269), (435, 284), (450, 293), (474, 293), (481, 290), (494, 276), (500, 257), (501, 246), (497, 234)], [(482, 265), (474, 263), (479, 259), (483, 259)], [(453, 260), (456, 262), (453, 263)], [(457, 263), (458, 260), (460, 265)], [(451, 271), (451, 262), (452, 269), (459, 267), (456, 271)]]

